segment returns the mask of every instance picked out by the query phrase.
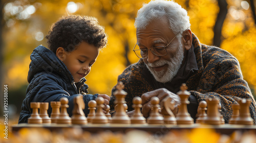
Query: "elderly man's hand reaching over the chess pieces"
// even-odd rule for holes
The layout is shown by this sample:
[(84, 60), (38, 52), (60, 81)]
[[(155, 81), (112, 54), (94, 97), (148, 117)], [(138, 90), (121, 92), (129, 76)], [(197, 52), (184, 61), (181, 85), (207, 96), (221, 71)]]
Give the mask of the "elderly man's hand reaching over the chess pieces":
[[(173, 98), (173, 100), (177, 103), (176, 105), (180, 104), (180, 97), (177, 94), (170, 92), (165, 88), (156, 89), (156, 90), (149, 91), (142, 94), (141, 99), (142, 99), (143, 107), (142, 107), (141, 113), (143, 114), (143, 116), (146, 118), (150, 115), (150, 111), (151, 111), (150, 99), (152, 97), (158, 97), (159, 101), (161, 102), (167, 96)], [(176, 108), (178, 107), (176, 106)]]

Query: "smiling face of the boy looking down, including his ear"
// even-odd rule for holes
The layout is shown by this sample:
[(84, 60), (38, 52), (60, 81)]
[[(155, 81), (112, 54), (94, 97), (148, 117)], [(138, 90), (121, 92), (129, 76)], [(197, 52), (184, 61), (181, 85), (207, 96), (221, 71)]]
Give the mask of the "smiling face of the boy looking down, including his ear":
[(67, 66), (74, 81), (79, 82), (90, 73), (99, 55), (99, 49), (93, 44), (82, 41), (72, 52), (66, 52), (63, 47), (59, 47), (56, 55)]

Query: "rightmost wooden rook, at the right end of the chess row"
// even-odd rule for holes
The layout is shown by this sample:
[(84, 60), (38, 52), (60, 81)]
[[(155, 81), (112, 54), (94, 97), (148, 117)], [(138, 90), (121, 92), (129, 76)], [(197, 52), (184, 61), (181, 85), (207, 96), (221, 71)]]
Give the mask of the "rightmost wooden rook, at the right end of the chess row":
[(242, 99), (238, 101), (240, 105), (240, 115), (237, 118), (237, 124), (239, 125), (253, 125), (253, 119), (249, 111), (251, 99)]

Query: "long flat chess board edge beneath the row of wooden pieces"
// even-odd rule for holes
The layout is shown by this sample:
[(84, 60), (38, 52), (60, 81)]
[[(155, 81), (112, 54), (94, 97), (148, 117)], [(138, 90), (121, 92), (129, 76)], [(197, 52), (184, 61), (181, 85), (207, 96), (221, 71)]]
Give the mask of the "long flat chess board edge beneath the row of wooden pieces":
[(99, 133), (102, 131), (122, 132), (125, 133), (131, 130), (141, 130), (150, 132), (152, 134), (166, 134), (169, 131), (175, 130), (191, 130), (191, 129), (213, 129), (217, 133), (230, 135), (234, 131), (254, 131), (256, 133), (256, 126), (245, 125), (140, 125), (140, 124), (87, 124), (87, 125), (67, 125), (67, 124), (18, 124), (12, 126), (12, 132), (17, 132), (22, 128), (45, 128), (50, 131), (60, 131), (63, 129), (81, 128), (83, 131), (91, 133)]

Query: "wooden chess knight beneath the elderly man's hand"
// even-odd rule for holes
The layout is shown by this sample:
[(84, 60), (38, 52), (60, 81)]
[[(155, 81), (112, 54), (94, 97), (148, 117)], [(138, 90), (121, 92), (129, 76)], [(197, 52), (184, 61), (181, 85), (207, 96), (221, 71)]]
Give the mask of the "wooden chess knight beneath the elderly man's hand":
[(173, 113), (175, 101), (171, 97), (167, 96), (161, 102), (160, 107), (161, 114), (163, 115), (164, 124), (177, 125), (177, 121)]

